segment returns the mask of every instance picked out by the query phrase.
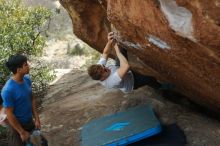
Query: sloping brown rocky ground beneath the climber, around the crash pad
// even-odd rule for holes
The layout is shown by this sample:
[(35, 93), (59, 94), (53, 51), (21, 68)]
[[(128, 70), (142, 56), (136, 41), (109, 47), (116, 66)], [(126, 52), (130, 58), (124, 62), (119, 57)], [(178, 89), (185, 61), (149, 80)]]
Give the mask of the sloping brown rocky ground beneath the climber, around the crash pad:
[(177, 123), (187, 146), (219, 146), (220, 122), (176, 96), (172, 102), (158, 91), (143, 87), (130, 94), (104, 89), (85, 71), (72, 70), (54, 85), (41, 107), (42, 131), (50, 146), (79, 146), (80, 130), (91, 119), (151, 104), (161, 123)]

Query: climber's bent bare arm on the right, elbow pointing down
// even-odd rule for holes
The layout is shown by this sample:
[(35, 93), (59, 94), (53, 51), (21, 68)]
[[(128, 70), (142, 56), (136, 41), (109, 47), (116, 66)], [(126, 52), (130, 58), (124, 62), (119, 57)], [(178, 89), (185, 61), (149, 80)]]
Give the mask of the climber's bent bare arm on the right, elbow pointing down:
[(128, 72), (130, 66), (128, 64), (127, 59), (120, 52), (118, 45), (115, 44), (114, 47), (115, 47), (116, 55), (120, 61), (120, 67), (118, 68), (117, 72), (119, 77), (122, 79), (125, 76), (125, 74)]

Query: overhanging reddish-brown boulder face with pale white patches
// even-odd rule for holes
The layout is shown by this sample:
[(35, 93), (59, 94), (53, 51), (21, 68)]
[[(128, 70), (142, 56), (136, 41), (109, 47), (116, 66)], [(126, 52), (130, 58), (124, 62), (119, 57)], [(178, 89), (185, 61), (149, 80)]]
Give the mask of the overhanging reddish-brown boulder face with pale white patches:
[[(102, 51), (114, 26), (134, 70), (220, 112), (220, 0), (60, 0), (74, 33)], [(113, 27), (112, 27), (113, 28)]]

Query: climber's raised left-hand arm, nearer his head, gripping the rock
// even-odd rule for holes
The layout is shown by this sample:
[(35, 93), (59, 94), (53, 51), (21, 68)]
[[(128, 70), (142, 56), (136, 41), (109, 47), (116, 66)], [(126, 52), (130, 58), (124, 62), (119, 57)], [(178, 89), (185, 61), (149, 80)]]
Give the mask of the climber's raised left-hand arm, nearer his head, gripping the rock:
[(108, 34), (108, 42), (107, 42), (107, 44), (106, 44), (106, 46), (103, 50), (103, 53), (102, 53), (103, 58), (108, 59), (108, 56), (110, 54), (113, 42), (114, 42), (114, 33), (110, 32)]

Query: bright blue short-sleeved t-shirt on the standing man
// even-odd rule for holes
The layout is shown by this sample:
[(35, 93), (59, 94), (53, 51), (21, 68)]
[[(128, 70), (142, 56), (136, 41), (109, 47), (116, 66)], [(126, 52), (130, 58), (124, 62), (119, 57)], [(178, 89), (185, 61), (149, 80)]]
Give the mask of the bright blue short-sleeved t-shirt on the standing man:
[(3, 106), (13, 107), (14, 115), (22, 124), (32, 120), (32, 88), (29, 76), (24, 76), (23, 83), (9, 79), (1, 92)]

